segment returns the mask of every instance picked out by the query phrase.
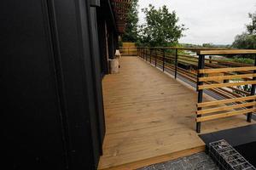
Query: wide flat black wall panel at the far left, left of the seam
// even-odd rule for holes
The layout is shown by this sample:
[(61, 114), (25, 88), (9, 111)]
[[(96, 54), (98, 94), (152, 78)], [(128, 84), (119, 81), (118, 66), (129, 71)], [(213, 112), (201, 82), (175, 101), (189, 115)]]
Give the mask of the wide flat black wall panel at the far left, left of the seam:
[(0, 3), (0, 153), (6, 169), (66, 167), (46, 13), (43, 0)]

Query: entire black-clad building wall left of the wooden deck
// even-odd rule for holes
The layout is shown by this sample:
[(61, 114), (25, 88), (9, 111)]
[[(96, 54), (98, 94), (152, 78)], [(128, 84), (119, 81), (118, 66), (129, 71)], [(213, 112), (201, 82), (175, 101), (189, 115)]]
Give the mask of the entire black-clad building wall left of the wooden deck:
[(105, 125), (96, 7), (89, 3), (1, 1), (6, 169), (96, 169)]

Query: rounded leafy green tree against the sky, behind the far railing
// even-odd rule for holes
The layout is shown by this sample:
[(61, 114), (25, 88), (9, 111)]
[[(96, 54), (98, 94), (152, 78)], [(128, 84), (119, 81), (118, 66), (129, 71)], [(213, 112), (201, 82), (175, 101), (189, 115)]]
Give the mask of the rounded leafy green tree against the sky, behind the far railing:
[(153, 5), (142, 9), (145, 14), (145, 24), (141, 26), (141, 41), (146, 46), (172, 46), (183, 36), (184, 26), (178, 26), (175, 11), (169, 12), (164, 5), (156, 9)]

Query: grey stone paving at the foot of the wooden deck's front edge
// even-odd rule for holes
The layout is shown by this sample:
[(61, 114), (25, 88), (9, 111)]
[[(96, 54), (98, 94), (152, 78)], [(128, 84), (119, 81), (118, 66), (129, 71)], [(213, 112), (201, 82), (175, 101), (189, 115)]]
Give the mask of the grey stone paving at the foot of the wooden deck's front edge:
[(218, 167), (206, 153), (198, 153), (173, 161), (166, 161), (137, 170), (218, 170)]

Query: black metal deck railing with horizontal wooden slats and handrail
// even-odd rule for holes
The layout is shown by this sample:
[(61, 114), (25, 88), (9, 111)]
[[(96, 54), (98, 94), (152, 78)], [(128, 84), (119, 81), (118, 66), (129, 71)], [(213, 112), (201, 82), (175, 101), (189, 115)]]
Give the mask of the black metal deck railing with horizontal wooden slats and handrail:
[[(125, 51), (125, 53), (122, 53), (122, 51)], [(197, 90), (198, 111), (196, 111), (196, 131), (198, 133), (201, 132), (201, 122), (215, 118), (233, 116), (237, 114), (247, 114), (247, 121), (251, 121), (252, 112), (254, 112), (254, 103), (244, 105), (241, 104), (254, 102), (254, 98), (249, 100), (241, 99), (254, 95), (255, 93), (254, 83), (256, 82), (256, 72), (254, 70), (254, 66), (256, 66), (256, 61), (254, 65), (248, 65), (227, 61), (221, 59), (221, 56), (237, 54), (256, 55), (256, 50), (140, 47), (129, 49), (121, 48), (120, 52), (122, 55), (137, 55), (141, 59), (147, 61), (149, 64), (154, 65), (162, 71), (172, 74), (175, 79), (179, 78)], [(135, 52), (137, 52), (137, 54), (134, 54)], [(207, 70), (211, 70), (210, 73), (203, 72)], [(251, 89), (245, 90), (241, 88), (242, 86), (248, 85), (251, 87)], [(238, 99), (238, 101), (227, 103), (227, 105), (238, 105), (216, 109), (217, 111), (235, 110), (231, 114), (230, 112), (224, 112), (224, 114), (226, 114), (225, 116), (224, 114), (219, 116), (220, 114), (217, 115), (215, 110), (208, 111), (209, 109), (206, 109), (207, 113), (205, 113), (205, 110), (201, 111), (205, 108), (200, 106), (200, 104), (203, 103), (202, 96), (204, 93), (212, 96), (220, 102), (223, 102), (224, 99)], [(241, 106), (241, 109), (249, 108), (249, 110), (240, 111), (238, 106)], [(214, 107), (217, 106), (215, 105)]]

